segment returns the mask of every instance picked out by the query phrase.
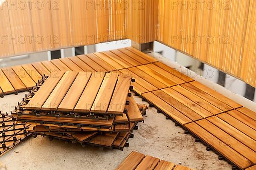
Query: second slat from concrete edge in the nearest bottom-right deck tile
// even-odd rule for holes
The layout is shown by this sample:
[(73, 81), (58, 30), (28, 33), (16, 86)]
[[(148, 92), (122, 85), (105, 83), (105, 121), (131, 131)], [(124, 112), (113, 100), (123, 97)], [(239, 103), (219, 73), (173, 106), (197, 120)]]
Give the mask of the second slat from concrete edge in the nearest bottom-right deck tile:
[(245, 146), (243, 143), (239, 142), (217, 126), (213, 125), (207, 119), (199, 120), (196, 123), (203, 127), (205, 130), (207, 130), (209, 133), (214, 135), (216, 138), (218, 138), (218, 140), (221, 141), (222, 144), (227, 144), (233, 150), (236, 150), (236, 152), (240, 153), (246, 159), (250, 160), (255, 164), (256, 154), (249, 147)]

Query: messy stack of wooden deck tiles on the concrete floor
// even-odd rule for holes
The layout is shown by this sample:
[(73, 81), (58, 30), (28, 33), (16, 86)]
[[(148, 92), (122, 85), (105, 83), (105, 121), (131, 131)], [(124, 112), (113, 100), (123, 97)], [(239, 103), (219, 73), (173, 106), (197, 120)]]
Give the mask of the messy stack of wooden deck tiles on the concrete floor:
[(59, 71), (42, 77), (12, 116), (32, 124), (34, 137), (122, 150), (146, 109), (129, 93), (133, 81), (116, 73)]

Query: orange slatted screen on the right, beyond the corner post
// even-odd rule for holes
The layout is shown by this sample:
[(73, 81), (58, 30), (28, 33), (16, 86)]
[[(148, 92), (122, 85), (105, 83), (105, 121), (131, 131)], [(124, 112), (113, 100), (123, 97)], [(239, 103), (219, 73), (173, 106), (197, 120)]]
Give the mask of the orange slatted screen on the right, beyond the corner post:
[(157, 40), (256, 87), (255, 0), (159, 0)]

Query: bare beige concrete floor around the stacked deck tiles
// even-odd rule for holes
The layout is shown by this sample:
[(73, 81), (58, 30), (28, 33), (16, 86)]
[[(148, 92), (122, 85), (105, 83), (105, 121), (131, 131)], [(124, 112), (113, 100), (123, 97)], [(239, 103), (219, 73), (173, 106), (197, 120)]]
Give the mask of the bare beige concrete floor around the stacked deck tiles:
[[(12, 111), (26, 92), (0, 98), (1, 111)], [(136, 101), (141, 102), (139, 97)], [(100, 150), (98, 147), (81, 147), (80, 144), (65, 144), (63, 141), (38, 136), (29, 138), (0, 157), (7, 170), (114, 170), (132, 150), (148, 154), (176, 164), (197, 170), (230, 170), (231, 165), (219, 161), (218, 156), (206, 147), (194, 142), (191, 135), (184, 134), (181, 127), (175, 127), (171, 120), (155, 108), (149, 108), (134, 130), (134, 139), (129, 139), (130, 147), (120, 150)]]

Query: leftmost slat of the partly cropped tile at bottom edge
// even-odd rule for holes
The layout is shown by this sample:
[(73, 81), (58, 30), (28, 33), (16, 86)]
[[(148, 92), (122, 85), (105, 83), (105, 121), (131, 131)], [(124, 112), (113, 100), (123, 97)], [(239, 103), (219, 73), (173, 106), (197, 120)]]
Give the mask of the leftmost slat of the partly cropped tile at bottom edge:
[(116, 170), (135, 170), (144, 157), (144, 154), (132, 151)]

